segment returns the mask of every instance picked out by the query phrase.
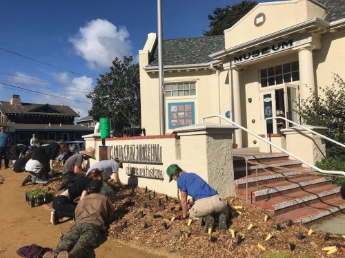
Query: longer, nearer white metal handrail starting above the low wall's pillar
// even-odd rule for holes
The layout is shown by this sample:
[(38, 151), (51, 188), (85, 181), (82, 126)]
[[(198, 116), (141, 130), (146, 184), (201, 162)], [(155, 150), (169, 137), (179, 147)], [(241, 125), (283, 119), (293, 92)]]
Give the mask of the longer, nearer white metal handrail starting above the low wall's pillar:
[(215, 117), (218, 117), (218, 118), (221, 118), (223, 120), (226, 120), (227, 122), (230, 122), (230, 124), (239, 127), (240, 129), (242, 129), (242, 130), (246, 131), (247, 133), (251, 134), (252, 136), (255, 136), (255, 138), (257, 138), (259, 140), (263, 140), (264, 142), (266, 142), (266, 143), (270, 144), (271, 146), (275, 147), (276, 149), (279, 149), (279, 151), (282, 151), (282, 152), (288, 154), (289, 156), (295, 158), (296, 160), (299, 160), (303, 164), (306, 164), (307, 166), (310, 166), (312, 169), (315, 169), (319, 173), (334, 174), (334, 175), (344, 175), (345, 176), (345, 172), (344, 171), (332, 171), (332, 170), (319, 169), (317, 166), (314, 166), (313, 164), (310, 164), (309, 162), (306, 162), (305, 160), (302, 160), (302, 158), (298, 158), (295, 154), (286, 151), (286, 149), (283, 149), (282, 147), (279, 147), (277, 144), (274, 144), (273, 142), (270, 142), (270, 141), (266, 140), (265, 138), (262, 138), (261, 136), (257, 135), (256, 133), (253, 133), (253, 131), (250, 131), (250, 130), (246, 129), (246, 128), (242, 127), (241, 125), (237, 125), (237, 123), (235, 123), (234, 121), (226, 118), (225, 116), (221, 116), (221, 115), (204, 116), (203, 120), (205, 122), (206, 118), (215, 118)]

